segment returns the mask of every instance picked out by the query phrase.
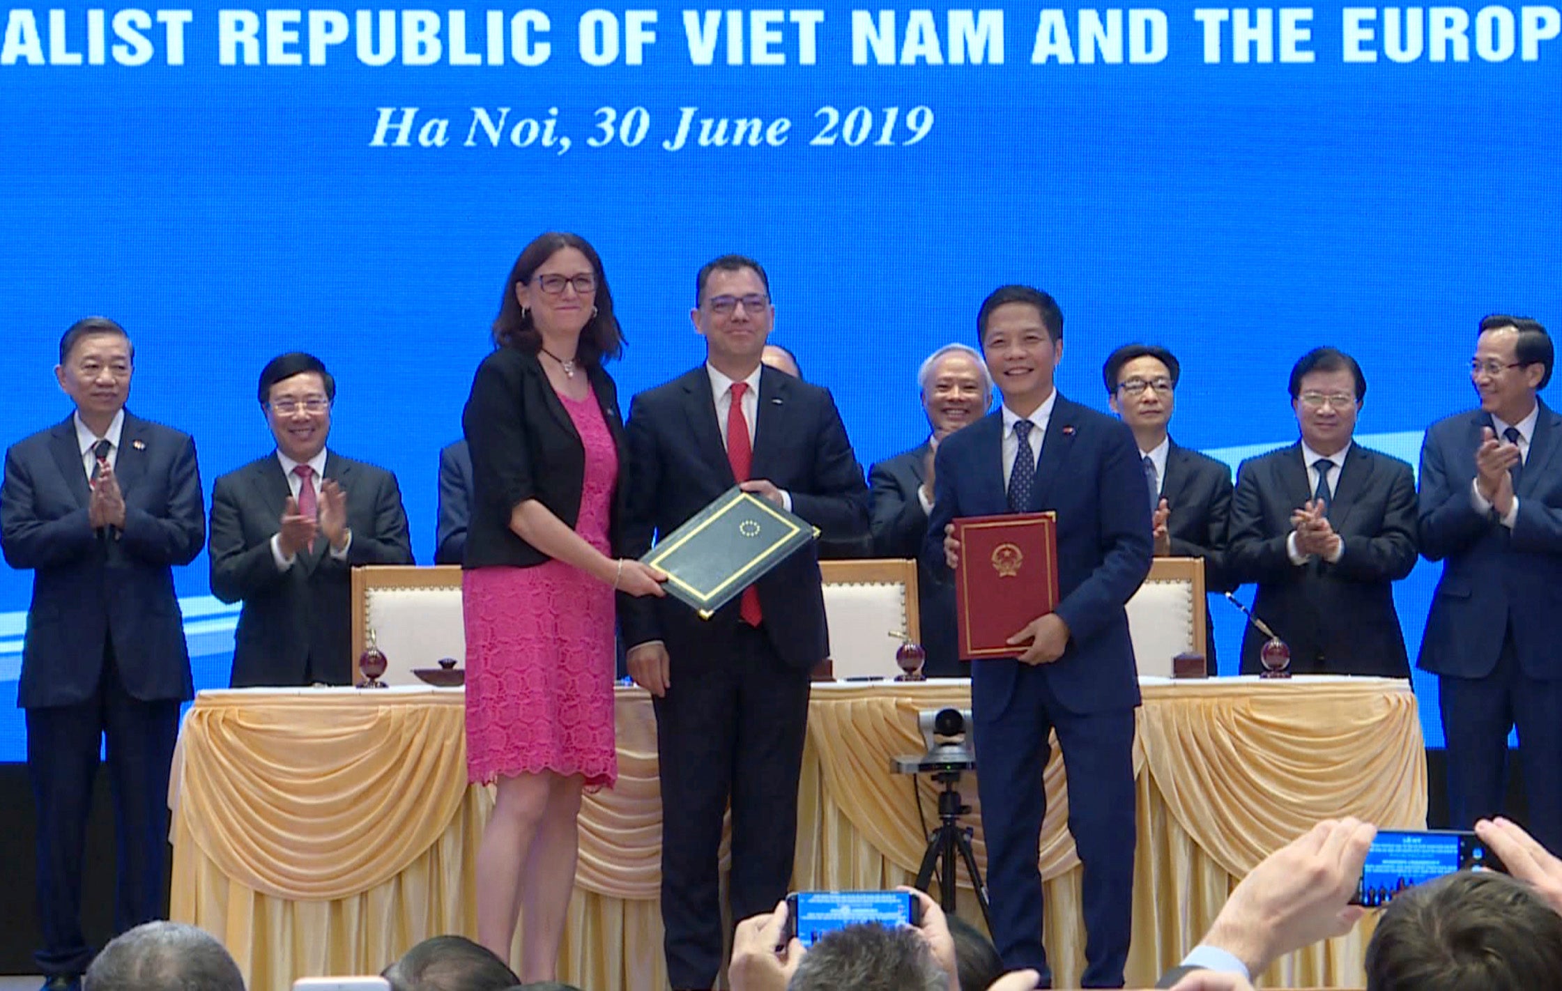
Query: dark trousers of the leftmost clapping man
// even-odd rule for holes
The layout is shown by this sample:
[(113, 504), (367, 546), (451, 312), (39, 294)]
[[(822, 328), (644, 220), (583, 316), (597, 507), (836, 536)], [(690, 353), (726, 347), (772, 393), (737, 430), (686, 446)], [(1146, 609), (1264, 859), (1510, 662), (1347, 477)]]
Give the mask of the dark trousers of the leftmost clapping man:
[(37, 807), (37, 918), (44, 930), (36, 960), (45, 975), (81, 974), (94, 955), (81, 933), (81, 858), (105, 733), (117, 840), (114, 932), (162, 916), (169, 768), (178, 726), (177, 701), (142, 702), (125, 691), (109, 645), (94, 698), (27, 710), (27, 769)]

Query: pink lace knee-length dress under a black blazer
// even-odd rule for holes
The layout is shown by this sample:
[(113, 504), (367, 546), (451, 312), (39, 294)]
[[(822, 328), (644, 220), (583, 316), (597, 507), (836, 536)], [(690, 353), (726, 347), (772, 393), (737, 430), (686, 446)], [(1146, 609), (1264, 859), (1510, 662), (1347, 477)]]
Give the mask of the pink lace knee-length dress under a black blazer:
[[(586, 446), (575, 531), (603, 554), (619, 454), (595, 396), (559, 396)], [(550, 560), (462, 574), (467, 632), (467, 777), (553, 771), (587, 788), (612, 787), (614, 596), (583, 571)]]

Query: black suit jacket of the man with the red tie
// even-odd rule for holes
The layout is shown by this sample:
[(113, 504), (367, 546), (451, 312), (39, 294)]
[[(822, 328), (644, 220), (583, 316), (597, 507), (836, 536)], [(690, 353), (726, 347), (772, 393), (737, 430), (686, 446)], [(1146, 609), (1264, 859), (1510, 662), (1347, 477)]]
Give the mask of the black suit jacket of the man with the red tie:
[[(704, 365), (634, 396), (626, 434), (634, 484), (623, 540), (625, 554), (639, 557), (650, 549), (653, 535), (672, 532), (734, 484)], [(867, 485), (829, 392), (769, 367), (759, 373), (753, 478), (789, 492), (792, 512), (825, 535), (851, 537), (867, 529)], [(776, 565), (756, 587), (764, 629), (786, 663), (811, 670), (829, 655), (812, 545)], [(672, 596), (620, 595), (619, 621), (626, 646), (662, 640), (678, 659), (720, 649), (737, 627), (739, 601), (700, 620)]]

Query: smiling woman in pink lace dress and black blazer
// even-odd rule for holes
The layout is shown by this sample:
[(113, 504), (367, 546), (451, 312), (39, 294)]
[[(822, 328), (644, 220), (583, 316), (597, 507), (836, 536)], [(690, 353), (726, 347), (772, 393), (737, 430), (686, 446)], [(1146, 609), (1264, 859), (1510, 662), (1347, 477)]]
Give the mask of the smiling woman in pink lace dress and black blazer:
[(520, 253), (462, 414), (473, 499), (462, 612), (467, 774), (495, 785), (478, 851), (478, 941), (553, 980), (584, 788), (612, 787), (614, 591), (664, 576), (614, 559), (623, 424), (603, 361), (620, 334), (601, 259), (575, 234)]

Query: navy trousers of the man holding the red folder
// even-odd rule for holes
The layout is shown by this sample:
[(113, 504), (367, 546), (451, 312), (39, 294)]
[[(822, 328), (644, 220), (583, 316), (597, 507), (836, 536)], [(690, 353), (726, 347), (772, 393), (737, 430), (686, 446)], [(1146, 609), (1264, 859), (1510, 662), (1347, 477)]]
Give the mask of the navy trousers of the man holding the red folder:
[[(973, 666), (982, 663), (993, 662)], [(1020, 665), (1006, 701), (973, 685), (972, 721), (992, 936), (1003, 966), (1036, 968), (1051, 986), (1037, 840), (1047, 816), (1048, 733), (1056, 729), (1068, 773), (1068, 832), (1084, 866), (1081, 986), (1122, 988), (1134, 915), (1134, 710), (1072, 713), (1053, 696), (1045, 665)]]

